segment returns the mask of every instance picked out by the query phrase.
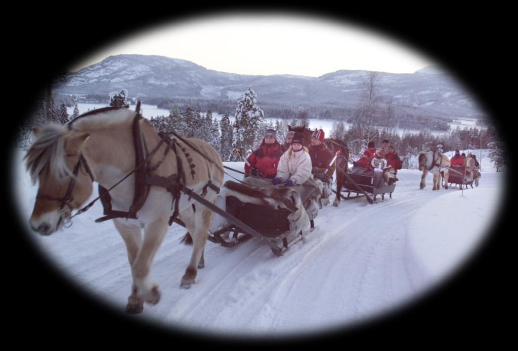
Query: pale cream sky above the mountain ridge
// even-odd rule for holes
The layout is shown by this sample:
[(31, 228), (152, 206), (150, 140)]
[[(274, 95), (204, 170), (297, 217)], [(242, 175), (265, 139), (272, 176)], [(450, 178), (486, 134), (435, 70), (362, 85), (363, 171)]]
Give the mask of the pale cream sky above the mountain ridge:
[(160, 55), (239, 74), (319, 77), (341, 69), (413, 73), (430, 58), (369, 27), (300, 14), (228, 14), (161, 23), (93, 52), (74, 67), (118, 54)]

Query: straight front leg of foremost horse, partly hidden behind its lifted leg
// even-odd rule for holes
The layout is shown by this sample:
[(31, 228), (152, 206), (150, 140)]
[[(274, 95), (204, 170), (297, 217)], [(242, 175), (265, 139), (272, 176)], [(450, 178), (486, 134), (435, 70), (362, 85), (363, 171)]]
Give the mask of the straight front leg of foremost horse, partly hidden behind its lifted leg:
[[(126, 244), (126, 251), (128, 254), (128, 261), (130, 266), (133, 265), (135, 258), (142, 246), (142, 233), (140, 227), (128, 227), (120, 223), (118, 219), (113, 219), (113, 224), (117, 228), (117, 231), (122, 236)], [(144, 300), (137, 296), (137, 287), (135, 282), (132, 284), (132, 293), (128, 297), (128, 303), (126, 305), (126, 312), (128, 313), (140, 313), (144, 308)]]

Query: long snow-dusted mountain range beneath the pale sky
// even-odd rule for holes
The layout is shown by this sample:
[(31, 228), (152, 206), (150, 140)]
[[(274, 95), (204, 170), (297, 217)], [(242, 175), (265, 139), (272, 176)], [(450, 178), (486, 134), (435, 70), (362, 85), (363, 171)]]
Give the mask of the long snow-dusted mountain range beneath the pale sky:
[[(70, 73), (54, 90), (61, 94), (106, 94), (125, 88), (131, 97), (237, 99), (251, 86), (261, 103), (286, 107), (358, 104), (369, 71), (340, 70), (321, 77), (290, 74), (244, 75), (218, 72), (187, 60), (116, 55)], [(415, 73), (377, 72), (380, 102), (400, 109), (448, 117), (476, 117), (481, 110), (452, 75), (439, 66)]]

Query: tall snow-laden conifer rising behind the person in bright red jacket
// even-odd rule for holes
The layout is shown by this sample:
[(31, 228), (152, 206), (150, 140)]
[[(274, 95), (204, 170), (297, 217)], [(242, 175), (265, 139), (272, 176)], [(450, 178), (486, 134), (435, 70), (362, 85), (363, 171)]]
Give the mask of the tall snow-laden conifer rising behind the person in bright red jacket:
[[(240, 149), (242, 152), (252, 149), (257, 144), (258, 131), (263, 120), (264, 112), (257, 105), (255, 91), (249, 87), (237, 100), (232, 148)], [(237, 161), (239, 157), (233, 154), (232, 159)]]

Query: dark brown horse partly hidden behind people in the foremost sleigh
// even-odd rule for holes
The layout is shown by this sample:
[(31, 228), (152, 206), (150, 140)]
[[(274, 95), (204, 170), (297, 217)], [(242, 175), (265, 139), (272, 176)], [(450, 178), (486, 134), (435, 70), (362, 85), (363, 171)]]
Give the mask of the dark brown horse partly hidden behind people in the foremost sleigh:
[[(311, 134), (313, 134), (313, 131), (306, 128), (306, 126), (298, 126), (298, 127), (292, 127), (288, 126), (288, 130), (303, 133), (304, 135), (304, 146), (309, 147), (311, 145)], [(334, 153), (338, 150), (340, 150), (340, 156), (336, 158), (336, 197), (335, 201), (333, 202), (333, 206), (338, 207), (340, 205), (341, 200), (341, 189), (343, 187), (343, 184), (345, 182), (345, 177), (342, 172), (348, 173), (349, 172), (349, 147), (347, 144), (339, 139), (334, 138), (326, 138), (324, 140), (324, 143), (326, 146), (333, 151)], [(340, 172), (340, 170), (342, 172)]]

